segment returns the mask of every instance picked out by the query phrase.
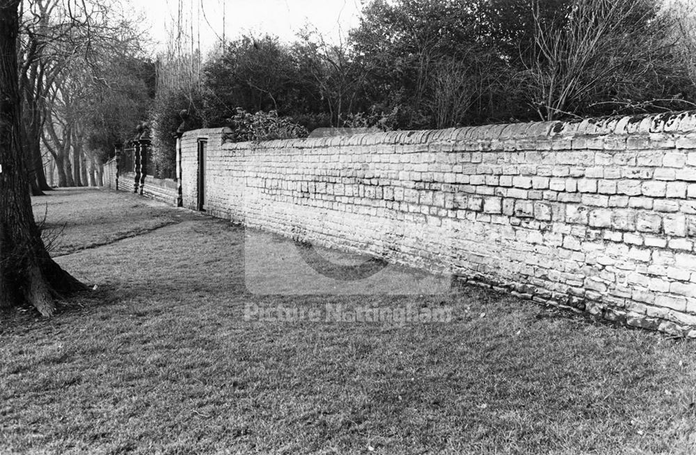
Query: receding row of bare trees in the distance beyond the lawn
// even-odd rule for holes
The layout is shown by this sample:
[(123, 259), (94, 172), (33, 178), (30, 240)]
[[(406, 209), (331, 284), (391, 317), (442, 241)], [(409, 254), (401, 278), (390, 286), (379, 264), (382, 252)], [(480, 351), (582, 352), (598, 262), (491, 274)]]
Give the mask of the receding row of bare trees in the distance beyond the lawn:
[(22, 0), (17, 60), (33, 195), (97, 185), (101, 164), (146, 117), (154, 65), (118, 0)]

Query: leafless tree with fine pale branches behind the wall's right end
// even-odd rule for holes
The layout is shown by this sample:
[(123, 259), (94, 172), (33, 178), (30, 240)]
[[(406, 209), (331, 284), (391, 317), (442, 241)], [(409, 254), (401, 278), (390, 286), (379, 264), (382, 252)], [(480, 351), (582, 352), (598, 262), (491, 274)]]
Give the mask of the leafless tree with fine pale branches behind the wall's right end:
[[(539, 117), (573, 115), (595, 101), (620, 102), (666, 66), (674, 23), (654, 0), (576, 0), (567, 17), (545, 23), (535, 3), (537, 56), (525, 72)], [(623, 93), (622, 93), (623, 90)]]

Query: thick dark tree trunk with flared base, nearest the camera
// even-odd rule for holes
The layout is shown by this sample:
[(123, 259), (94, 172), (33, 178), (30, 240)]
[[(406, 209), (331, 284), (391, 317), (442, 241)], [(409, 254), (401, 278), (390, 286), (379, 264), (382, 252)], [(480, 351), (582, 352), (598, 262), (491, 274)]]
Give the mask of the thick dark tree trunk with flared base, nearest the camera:
[(55, 297), (85, 287), (51, 259), (31, 210), (17, 81), (20, 1), (0, 0), (0, 308), (26, 301), (50, 316)]

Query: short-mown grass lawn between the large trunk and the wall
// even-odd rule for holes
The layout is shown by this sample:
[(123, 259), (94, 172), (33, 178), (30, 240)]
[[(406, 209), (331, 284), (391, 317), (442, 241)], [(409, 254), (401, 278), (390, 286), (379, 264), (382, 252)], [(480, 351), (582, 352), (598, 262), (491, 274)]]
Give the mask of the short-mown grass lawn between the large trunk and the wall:
[[(261, 295), (246, 239), (267, 256), (292, 242), (126, 193), (61, 190), (35, 211), (98, 288), (51, 320), (2, 315), (0, 454), (696, 453), (693, 342), (457, 285)], [(244, 320), (279, 304), (453, 319)]]

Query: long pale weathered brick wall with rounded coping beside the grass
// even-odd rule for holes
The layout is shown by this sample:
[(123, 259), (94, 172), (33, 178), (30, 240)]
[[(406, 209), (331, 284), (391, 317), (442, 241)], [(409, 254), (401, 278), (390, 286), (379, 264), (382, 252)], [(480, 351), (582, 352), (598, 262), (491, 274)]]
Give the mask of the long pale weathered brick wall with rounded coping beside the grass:
[(207, 141), (212, 215), (696, 336), (696, 113)]

